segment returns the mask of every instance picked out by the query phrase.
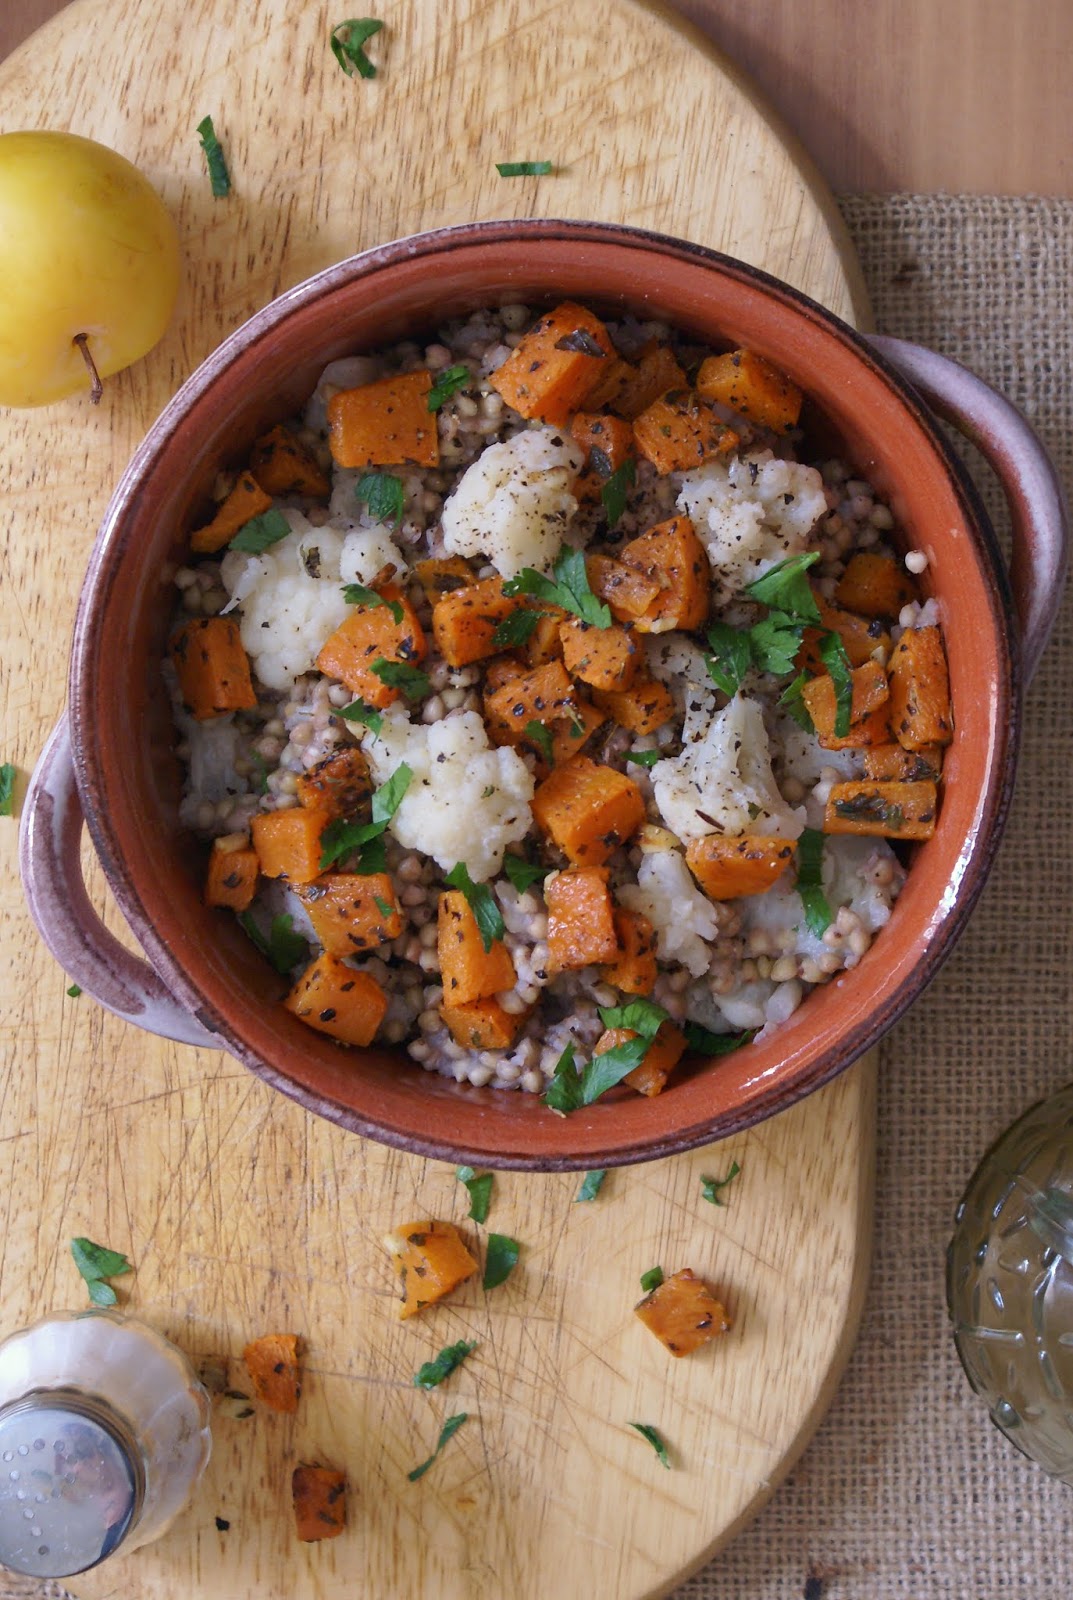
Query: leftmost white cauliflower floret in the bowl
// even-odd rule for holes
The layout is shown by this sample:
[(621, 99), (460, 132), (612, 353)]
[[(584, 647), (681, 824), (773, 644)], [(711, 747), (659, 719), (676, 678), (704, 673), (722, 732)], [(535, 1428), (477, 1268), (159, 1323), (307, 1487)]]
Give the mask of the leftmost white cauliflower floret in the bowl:
[(221, 582), (241, 605), (240, 634), (253, 670), (270, 690), (288, 690), (310, 672), (321, 645), (350, 606), (342, 598), (342, 539), (333, 528), (313, 528), (293, 507), (285, 539), (261, 555), (229, 550)]

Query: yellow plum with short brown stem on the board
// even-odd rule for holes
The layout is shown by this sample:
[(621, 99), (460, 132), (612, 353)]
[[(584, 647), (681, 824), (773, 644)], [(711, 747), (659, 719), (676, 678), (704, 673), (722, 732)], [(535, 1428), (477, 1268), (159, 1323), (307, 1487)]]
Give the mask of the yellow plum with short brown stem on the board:
[(179, 237), (123, 155), (74, 133), (0, 134), (0, 405), (91, 389), (154, 347)]

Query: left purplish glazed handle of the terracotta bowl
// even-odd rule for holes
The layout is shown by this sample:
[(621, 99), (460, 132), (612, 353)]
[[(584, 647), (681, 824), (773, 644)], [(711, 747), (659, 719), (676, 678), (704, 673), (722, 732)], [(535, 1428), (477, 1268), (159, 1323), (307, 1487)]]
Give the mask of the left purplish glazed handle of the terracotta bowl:
[(82, 878), (82, 802), (64, 714), (34, 768), (19, 824), (22, 888), (42, 939), (74, 981), (109, 1011), (181, 1045), (222, 1050), (152, 966), (104, 926)]

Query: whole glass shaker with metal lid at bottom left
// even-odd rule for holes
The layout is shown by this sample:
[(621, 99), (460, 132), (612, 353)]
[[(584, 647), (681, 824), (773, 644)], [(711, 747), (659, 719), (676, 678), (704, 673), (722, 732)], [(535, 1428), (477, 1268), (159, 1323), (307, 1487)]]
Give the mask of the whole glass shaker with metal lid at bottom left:
[(134, 1317), (59, 1312), (0, 1342), (0, 1566), (69, 1578), (158, 1538), (209, 1458), (209, 1400)]

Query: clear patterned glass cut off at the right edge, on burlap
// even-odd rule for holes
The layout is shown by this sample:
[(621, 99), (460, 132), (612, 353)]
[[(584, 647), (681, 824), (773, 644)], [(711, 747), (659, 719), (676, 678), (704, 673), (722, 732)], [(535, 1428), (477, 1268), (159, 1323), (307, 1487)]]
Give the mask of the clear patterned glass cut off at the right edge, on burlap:
[(1073, 1486), (1073, 1085), (1025, 1112), (972, 1174), (947, 1307), (995, 1426)]

